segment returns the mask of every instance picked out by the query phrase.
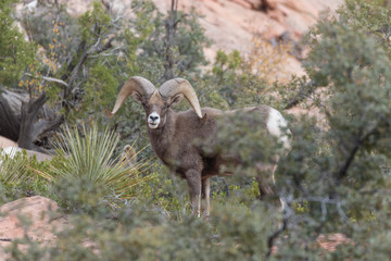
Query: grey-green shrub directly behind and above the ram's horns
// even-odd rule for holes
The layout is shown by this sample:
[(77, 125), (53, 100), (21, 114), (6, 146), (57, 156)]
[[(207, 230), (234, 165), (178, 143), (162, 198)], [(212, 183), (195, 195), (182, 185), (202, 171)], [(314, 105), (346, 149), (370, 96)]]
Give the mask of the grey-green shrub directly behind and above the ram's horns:
[(153, 27), (140, 42), (141, 52), (138, 55), (140, 65), (147, 65), (147, 61), (152, 64), (149, 65), (150, 72), (141, 70), (140, 73), (149, 74), (146, 77), (156, 84), (173, 77), (199, 76), (201, 66), (207, 64), (203, 48), (211, 40), (198, 22), (200, 14), (197, 10), (184, 13), (173, 7), (162, 14), (152, 1), (135, 1), (134, 7), (138, 18), (141, 18), (138, 23), (150, 21), (148, 26)]

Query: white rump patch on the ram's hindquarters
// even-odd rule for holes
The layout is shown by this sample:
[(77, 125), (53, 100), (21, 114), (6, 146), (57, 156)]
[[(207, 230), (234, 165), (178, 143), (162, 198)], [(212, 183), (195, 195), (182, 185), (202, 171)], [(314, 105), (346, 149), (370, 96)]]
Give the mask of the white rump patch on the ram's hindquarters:
[(287, 121), (279, 111), (270, 108), (266, 126), (269, 134), (276, 136), (283, 144), (285, 149), (290, 149), (289, 135), (291, 132), (287, 128)]

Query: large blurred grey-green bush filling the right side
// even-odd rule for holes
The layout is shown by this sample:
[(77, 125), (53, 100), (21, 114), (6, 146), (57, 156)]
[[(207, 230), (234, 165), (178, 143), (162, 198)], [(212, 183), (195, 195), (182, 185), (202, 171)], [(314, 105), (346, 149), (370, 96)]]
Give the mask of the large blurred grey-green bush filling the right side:
[(311, 259), (319, 252), (305, 246), (319, 234), (336, 232), (349, 235), (354, 246), (320, 252), (323, 260), (387, 254), (367, 245), (379, 244), (390, 226), (384, 215), (391, 211), (390, 176), (381, 170), (390, 162), (391, 149), (390, 48), (371, 32), (389, 23), (388, 11), (380, 9), (374, 2), (348, 1), (340, 16), (320, 21), (308, 35), (304, 66), (315, 84), (306, 87), (313, 94), (306, 101), (319, 110), (323, 122), (291, 121), (294, 142), (279, 165), (278, 187), (293, 208), (305, 209), (289, 216), (280, 259)]

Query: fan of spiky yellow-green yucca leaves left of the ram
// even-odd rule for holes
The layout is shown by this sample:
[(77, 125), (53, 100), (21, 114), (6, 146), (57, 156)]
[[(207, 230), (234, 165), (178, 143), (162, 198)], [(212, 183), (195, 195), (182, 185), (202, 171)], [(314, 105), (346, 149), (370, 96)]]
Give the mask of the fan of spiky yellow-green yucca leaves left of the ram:
[(151, 165), (150, 161), (127, 167), (113, 158), (119, 140), (117, 134), (108, 129), (100, 133), (96, 126), (83, 127), (83, 133), (66, 126), (59, 136), (58, 157), (50, 164), (51, 179), (70, 184), (88, 181), (104, 195), (131, 197), (134, 186), (147, 178), (139, 174)]

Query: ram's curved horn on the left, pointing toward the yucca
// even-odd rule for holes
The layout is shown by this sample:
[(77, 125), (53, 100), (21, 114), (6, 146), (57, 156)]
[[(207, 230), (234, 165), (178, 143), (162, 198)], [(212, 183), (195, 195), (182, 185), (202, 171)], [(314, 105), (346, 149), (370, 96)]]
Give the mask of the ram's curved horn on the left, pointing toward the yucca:
[(155, 90), (156, 88), (154, 85), (148, 79), (140, 76), (130, 77), (122, 87), (115, 101), (114, 109), (112, 112), (109, 112), (109, 116), (113, 116), (119, 110), (125, 100), (130, 95), (134, 95), (134, 92), (137, 92), (140, 96), (150, 96)]

